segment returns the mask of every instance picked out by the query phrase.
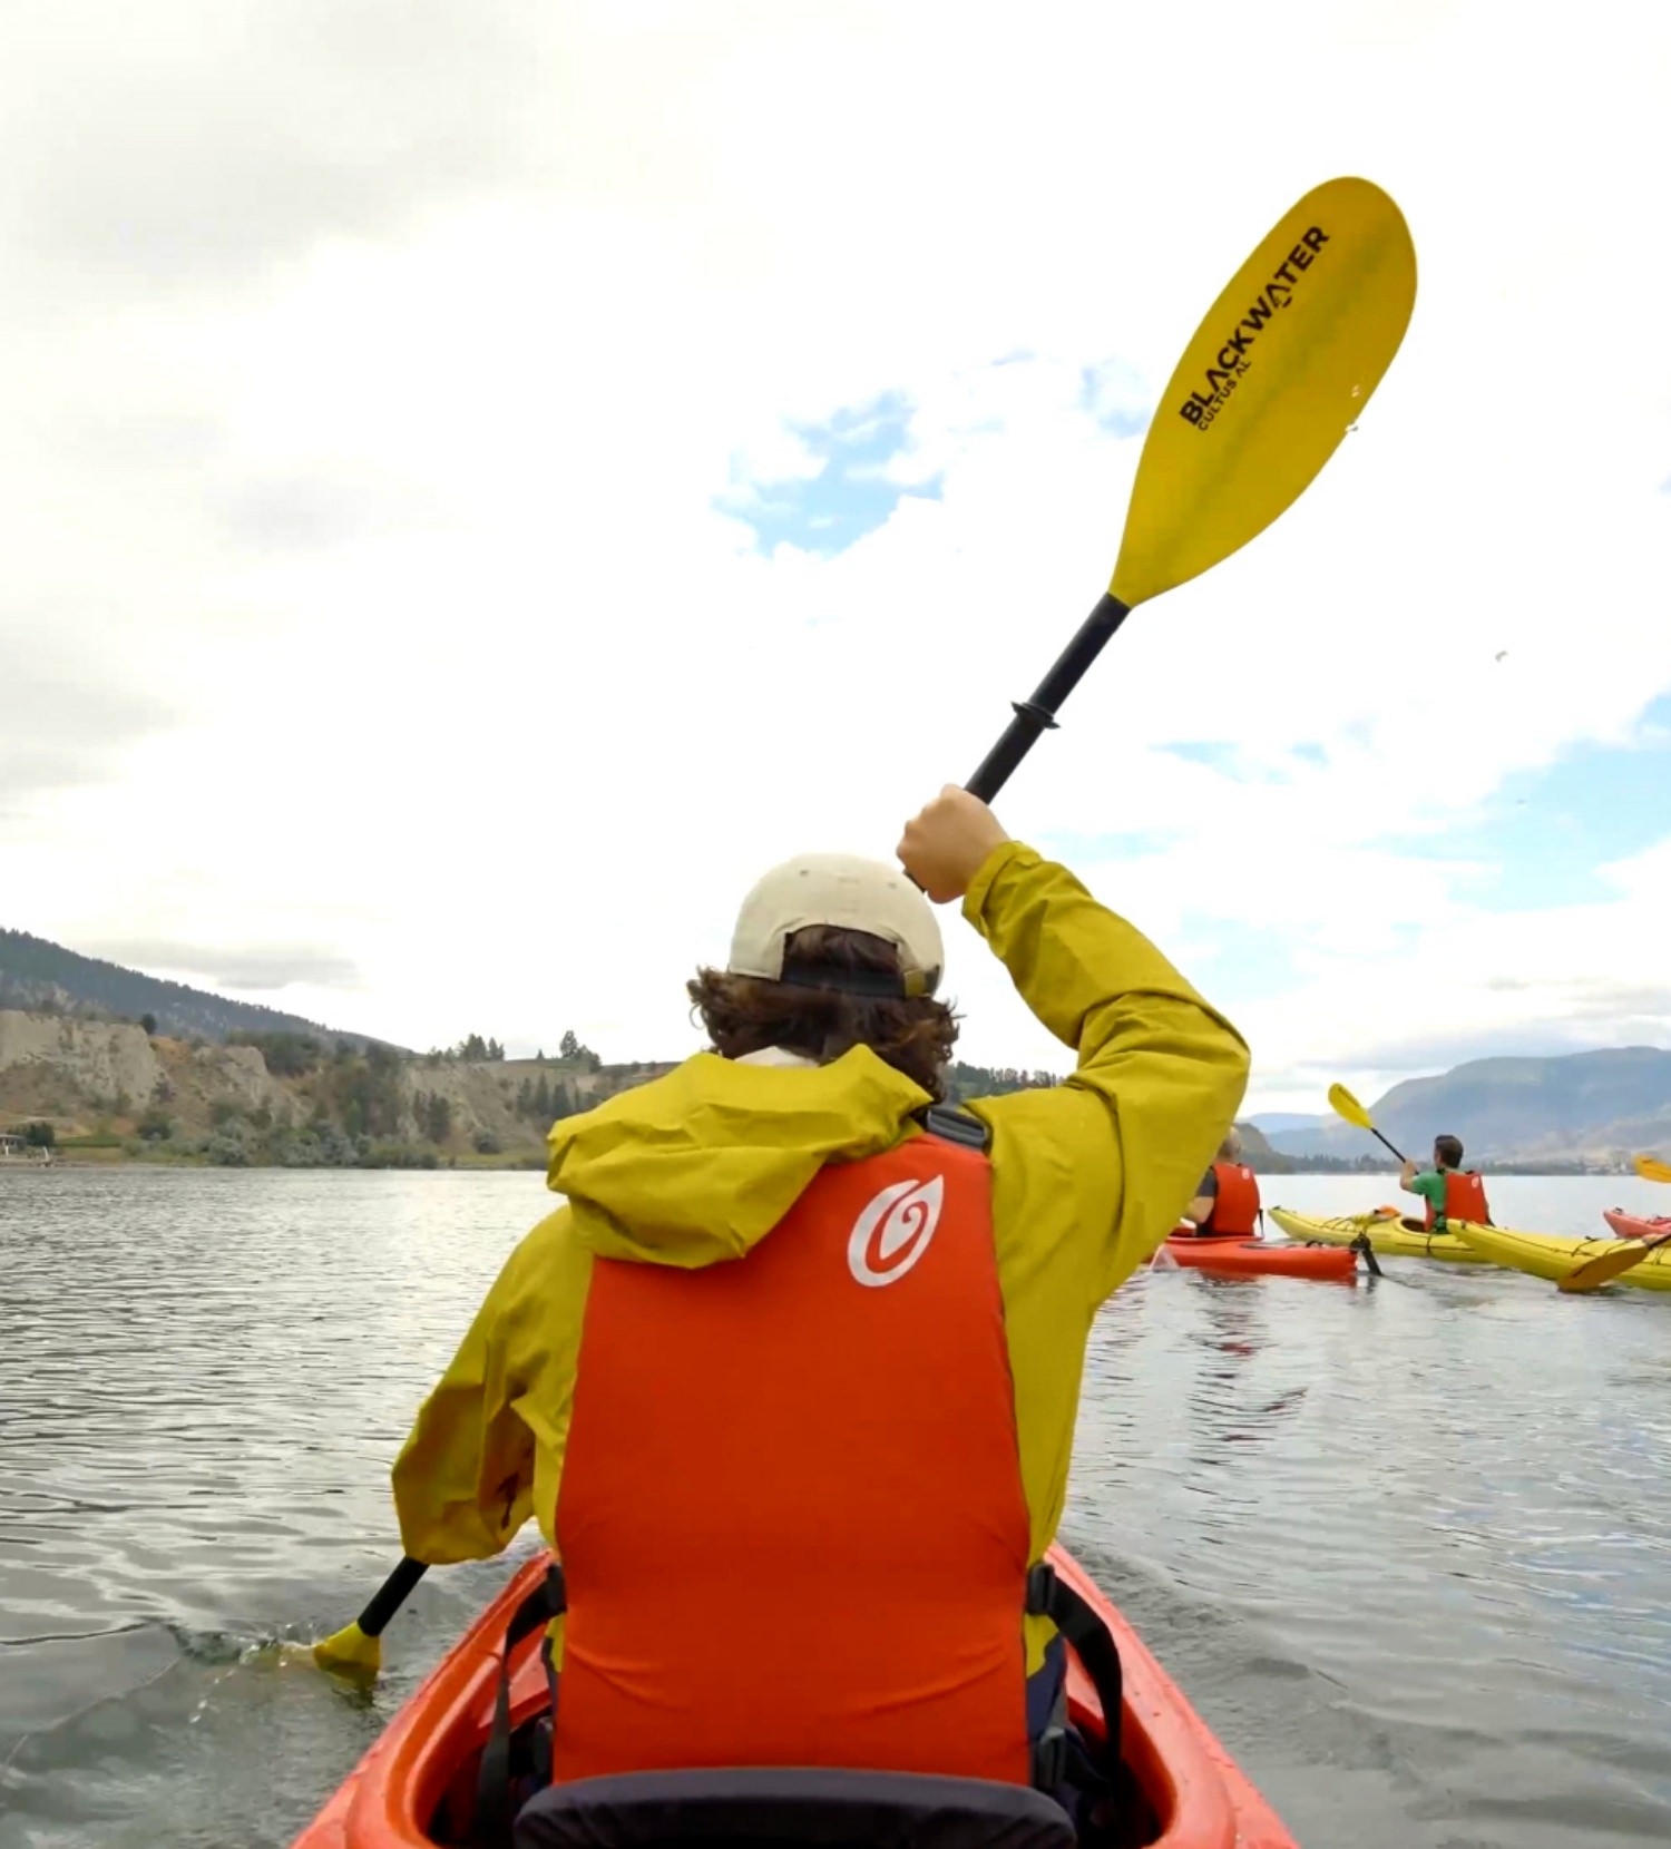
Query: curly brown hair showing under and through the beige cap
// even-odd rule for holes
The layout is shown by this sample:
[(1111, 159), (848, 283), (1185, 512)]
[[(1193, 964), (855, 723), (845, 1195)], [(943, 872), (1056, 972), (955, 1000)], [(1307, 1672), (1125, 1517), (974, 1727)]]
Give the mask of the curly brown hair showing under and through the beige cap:
[(782, 1047), (828, 1065), (854, 1047), (869, 1047), (896, 1072), (915, 1080), (939, 1104), (957, 1043), (957, 1015), (932, 995), (852, 995), (810, 987), (817, 974), (900, 973), (898, 952), (871, 932), (808, 924), (786, 945), (784, 969), (800, 982), (765, 982), (699, 969), (686, 984), (691, 1013), (702, 1017), (714, 1050), (726, 1059)]

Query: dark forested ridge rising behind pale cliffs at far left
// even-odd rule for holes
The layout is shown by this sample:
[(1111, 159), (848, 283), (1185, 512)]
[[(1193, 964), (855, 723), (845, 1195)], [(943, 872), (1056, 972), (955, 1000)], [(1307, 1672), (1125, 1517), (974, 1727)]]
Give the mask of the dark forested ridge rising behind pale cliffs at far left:
[(140, 1021), (152, 1015), (157, 1030), (179, 1039), (224, 1041), (233, 1034), (314, 1034), (344, 1039), (357, 1048), (372, 1045), (366, 1034), (344, 1034), (301, 1015), (287, 1015), (259, 1002), (233, 1002), (183, 982), (165, 982), (120, 963), (81, 956), (24, 930), (0, 930), (0, 1008), (46, 1010), (67, 1015)]

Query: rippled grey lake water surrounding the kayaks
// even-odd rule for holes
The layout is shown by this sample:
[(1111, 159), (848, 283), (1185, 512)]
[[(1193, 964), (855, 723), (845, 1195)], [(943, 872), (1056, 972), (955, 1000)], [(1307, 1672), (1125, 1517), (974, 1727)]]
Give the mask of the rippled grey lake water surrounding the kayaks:
[[(1492, 1183), (1573, 1233), (1647, 1193)], [(506, 1568), (431, 1573), (370, 1705), (251, 1646), (394, 1564), (388, 1463), (547, 1207), (534, 1174), (0, 1172), (0, 1849), (307, 1823)], [(1065, 1538), (1307, 1849), (1664, 1845), (1671, 1302), (1383, 1267), (1128, 1285)]]

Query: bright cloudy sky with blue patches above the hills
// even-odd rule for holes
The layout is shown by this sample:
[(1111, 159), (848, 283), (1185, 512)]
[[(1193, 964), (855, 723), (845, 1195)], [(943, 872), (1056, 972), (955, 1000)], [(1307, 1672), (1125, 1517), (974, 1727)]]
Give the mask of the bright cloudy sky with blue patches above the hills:
[[(1250, 1108), (1671, 1045), (1671, 9), (52, 0), (0, 26), (0, 924), (410, 1047), (697, 1045), (1102, 592), (1312, 185), (1359, 431), (1006, 790)], [(1506, 653), (1505, 653), (1506, 651)], [(965, 1050), (1063, 1069), (956, 919)]]

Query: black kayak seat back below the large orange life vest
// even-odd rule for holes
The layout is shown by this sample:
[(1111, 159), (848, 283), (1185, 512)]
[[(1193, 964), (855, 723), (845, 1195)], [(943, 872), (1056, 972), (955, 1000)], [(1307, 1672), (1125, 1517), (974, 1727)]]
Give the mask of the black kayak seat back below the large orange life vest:
[(915, 1771), (747, 1766), (553, 1784), (523, 1805), (516, 1849), (1076, 1849), (1068, 1814), (1026, 1784)]

